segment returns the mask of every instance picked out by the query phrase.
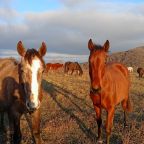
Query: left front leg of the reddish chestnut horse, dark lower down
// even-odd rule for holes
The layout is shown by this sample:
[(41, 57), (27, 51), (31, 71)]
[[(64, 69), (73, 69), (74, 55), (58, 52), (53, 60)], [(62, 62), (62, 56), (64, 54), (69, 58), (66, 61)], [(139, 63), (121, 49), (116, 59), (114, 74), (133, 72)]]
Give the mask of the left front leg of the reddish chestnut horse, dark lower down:
[(102, 125), (101, 108), (94, 105), (94, 109), (96, 112), (96, 121), (97, 121), (97, 125), (98, 125), (98, 143), (102, 143), (102, 139), (101, 139), (101, 125)]

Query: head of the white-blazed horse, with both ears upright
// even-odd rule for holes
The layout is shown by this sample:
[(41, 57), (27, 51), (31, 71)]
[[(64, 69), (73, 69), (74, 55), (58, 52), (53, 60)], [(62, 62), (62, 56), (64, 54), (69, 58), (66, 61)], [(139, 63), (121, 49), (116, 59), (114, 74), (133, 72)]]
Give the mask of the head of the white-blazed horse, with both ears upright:
[(43, 56), (46, 54), (46, 44), (36, 49), (25, 49), (22, 42), (17, 44), (18, 54), (21, 56), (19, 68), (19, 81), (22, 86), (23, 99), (26, 108), (33, 112), (40, 107), (42, 100), (41, 81), (45, 63)]

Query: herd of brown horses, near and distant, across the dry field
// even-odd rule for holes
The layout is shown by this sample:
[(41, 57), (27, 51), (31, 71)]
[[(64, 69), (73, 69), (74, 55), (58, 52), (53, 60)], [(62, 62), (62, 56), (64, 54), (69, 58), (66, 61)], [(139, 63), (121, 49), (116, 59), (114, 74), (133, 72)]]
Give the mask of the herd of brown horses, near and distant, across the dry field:
[[(127, 112), (132, 110), (129, 96), (130, 77), (126, 66), (121, 63), (106, 63), (110, 43), (103, 45), (88, 41), (89, 54), (89, 95), (96, 112), (98, 126), (98, 143), (102, 143), (102, 109), (106, 116), (106, 143), (110, 143), (116, 106), (121, 103), (124, 111), (124, 128), (127, 126)], [(49, 70), (63, 68), (65, 73), (82, 75), (79, 63), (45, 64), (46, 44), (42, 42), (39, 50), (25, 49), (21, 41), (17, 44), (21, 60), (0, 59), (0, 114), (7, 112), (10, 127), (11, 143), (20, 144), (22, 139), (20, 119), (29, 113), (32, 117), (32, 134), (36, 144), (41, 144), (40, 106), (42, 101), (42, 75)], [(142, 69), (143, 70), (143, 69)], [(142, 73), (138, 69), (138, 73)], [(142, 76), (142, 74), (140, 75)], [(1, 119), (3, 123), (4, 119)]]

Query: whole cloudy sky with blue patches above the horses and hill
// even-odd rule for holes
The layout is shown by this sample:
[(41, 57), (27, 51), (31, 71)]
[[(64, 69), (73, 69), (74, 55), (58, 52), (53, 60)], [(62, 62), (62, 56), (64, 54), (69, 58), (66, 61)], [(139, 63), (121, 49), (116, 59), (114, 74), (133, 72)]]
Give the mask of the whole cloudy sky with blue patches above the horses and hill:
[(111, 52), (144, 45), (143, 0), (0, 0), (0, 57), (44, 41), (46, 60), (87, 61), (90, 38)]

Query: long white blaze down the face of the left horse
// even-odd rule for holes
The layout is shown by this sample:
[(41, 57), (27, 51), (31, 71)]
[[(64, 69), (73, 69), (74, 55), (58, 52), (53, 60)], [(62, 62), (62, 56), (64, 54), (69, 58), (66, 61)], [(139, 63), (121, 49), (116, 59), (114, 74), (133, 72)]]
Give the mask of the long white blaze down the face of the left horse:
[(33, 102), (35, 104), (35, 106), (37, 107), (39, 104), (39, 100), (38, 100), (38, 79), (37, 79), (37, 74), (38, 74), (38, 70), (40, 68), (40, 60), (39, 59), (35, 59), (32, 61), (32, 83), (31, 83), (31, 92), (33, 95)]

